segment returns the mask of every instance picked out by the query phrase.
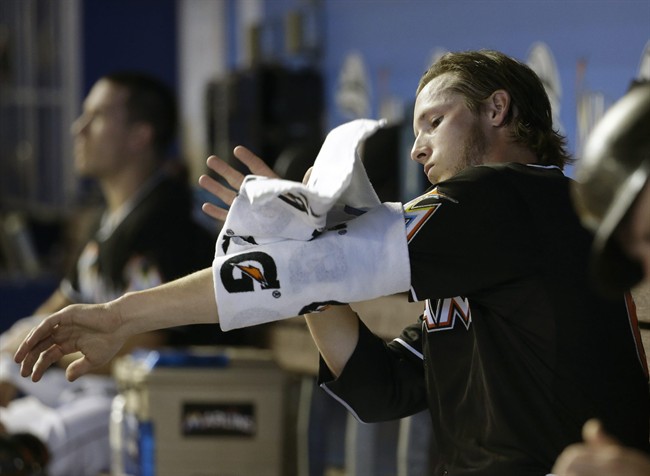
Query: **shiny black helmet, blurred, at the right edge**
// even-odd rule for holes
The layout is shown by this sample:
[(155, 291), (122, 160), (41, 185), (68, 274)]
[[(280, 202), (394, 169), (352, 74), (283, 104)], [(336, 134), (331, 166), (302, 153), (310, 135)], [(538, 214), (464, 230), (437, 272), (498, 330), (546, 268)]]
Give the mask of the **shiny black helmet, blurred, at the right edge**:
[(572, 189), (583, 225), (594, 233), (593, 272), (617, 293), (643, 278), (641, 263), (622, 250), (616, 231), (650, 176), (650, 82), (633, 84), (596, 124)]

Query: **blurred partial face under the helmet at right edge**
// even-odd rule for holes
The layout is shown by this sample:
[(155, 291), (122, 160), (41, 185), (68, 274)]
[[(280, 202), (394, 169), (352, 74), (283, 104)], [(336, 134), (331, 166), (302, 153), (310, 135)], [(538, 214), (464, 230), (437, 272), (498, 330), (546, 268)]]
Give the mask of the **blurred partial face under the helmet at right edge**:
[(650, 183), (634, 202), (617, 238), (625, 253), (642, 264), (644, 278), (650, 283)]

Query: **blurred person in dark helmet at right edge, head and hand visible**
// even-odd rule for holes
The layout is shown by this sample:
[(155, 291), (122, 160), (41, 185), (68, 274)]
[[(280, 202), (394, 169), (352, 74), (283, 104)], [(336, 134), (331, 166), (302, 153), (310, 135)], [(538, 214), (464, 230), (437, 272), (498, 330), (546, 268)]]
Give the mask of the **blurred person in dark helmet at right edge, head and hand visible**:
[[(596, 235), (593, 271), (606, 292), (650, 283), (650, 82), (634, 84), (590, 135), (576, 172), (580, 218)], [(646, 476), (647, 455), (621, 446), (590, 420), (568, 447), (558, 476)]]

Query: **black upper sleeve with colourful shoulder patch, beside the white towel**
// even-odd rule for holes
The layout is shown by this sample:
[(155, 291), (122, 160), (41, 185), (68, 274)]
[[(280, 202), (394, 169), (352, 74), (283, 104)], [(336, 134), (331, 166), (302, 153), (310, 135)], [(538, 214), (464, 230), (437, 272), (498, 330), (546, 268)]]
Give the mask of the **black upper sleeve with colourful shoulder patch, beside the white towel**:
[(529, 214), (490, 167), (441, 182), (404, 216), (413, 300), (468, 296), (530, 272)]

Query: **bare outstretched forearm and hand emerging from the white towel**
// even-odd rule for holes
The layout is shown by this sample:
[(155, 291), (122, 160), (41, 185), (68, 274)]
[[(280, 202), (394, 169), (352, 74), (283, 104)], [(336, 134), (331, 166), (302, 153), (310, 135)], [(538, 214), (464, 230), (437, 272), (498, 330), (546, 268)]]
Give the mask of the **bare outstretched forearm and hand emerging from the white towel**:
[(106, 304), (75, 304), (45, 318), (18, 348), (21, 375), (37, 382), (43, 372), (73, 352), (82, 355), (66, 369), (75, 380), (113, 358), (136, 334), (186, 324), (218, 322), (212, 269)]

